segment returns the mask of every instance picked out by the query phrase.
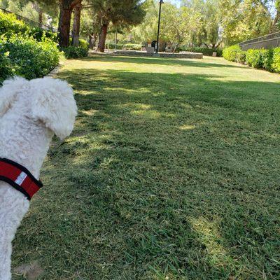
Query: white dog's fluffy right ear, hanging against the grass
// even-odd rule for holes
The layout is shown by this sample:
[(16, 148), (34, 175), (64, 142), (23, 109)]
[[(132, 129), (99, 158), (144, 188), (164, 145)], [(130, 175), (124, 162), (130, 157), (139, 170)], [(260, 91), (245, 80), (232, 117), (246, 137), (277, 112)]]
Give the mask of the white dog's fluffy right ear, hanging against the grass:
[(32, 116), (41, 120), (59, 139), (68, 137), (75, 123), (77, 106), (72, 88), (62, 80), (31, 80)]

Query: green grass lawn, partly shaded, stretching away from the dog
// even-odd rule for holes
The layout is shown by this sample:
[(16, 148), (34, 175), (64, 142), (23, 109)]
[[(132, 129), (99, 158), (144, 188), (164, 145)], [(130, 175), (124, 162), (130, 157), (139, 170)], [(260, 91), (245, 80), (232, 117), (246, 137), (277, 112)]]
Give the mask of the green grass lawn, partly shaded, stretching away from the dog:
[(280, 279), (279, 75), (91, 56), (57, 76), (79, 115), (50, 148), (14, 267), (36, 260), (45, 280)]

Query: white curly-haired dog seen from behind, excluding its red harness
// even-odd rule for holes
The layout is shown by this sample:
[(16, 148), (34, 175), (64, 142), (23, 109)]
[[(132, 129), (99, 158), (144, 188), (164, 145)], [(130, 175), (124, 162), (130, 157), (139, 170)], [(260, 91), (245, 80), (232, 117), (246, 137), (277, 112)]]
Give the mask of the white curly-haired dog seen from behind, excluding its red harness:
[[(71, 134), (77, 114), (71, 87), (62, 80), (6, 80), (0, 87), (0, 158), (22, 165), (38, 179), (54, 134)], [(15, 232), (29, 200), (0, 181), (0, 280), (10, 280)]]

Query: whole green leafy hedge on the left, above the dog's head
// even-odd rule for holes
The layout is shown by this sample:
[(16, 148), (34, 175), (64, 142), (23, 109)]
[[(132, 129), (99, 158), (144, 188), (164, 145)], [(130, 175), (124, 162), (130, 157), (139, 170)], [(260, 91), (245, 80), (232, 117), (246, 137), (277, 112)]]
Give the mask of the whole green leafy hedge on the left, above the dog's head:
[(31, 79), (48, 74), (62, 56), (56, 40), (57, 34), (0, 12), (0, 83), (14, 75)]

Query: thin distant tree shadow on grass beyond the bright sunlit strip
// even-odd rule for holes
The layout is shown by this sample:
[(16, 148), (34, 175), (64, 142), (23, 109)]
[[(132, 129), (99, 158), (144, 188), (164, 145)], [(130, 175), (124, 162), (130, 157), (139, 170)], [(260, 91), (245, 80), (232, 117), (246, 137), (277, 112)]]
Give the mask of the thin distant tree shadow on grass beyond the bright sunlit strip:
[(195, 67), (218, 67), (218, 68), (241, 68), (246, 66), (239, 64), (222, 64), (221, 61), (217, 63), (203, 62), (203, 59), (178, 59), (178, 58), (152, 58), (152, 57), (117, 57), (110, 55), (90, 55), (80, 60), (92, 62), (111, 62), (111, 63), (134, 63), (134, 64), (154, 64), (154, 65), (169, 65), (169, 66), (195, 66)]

